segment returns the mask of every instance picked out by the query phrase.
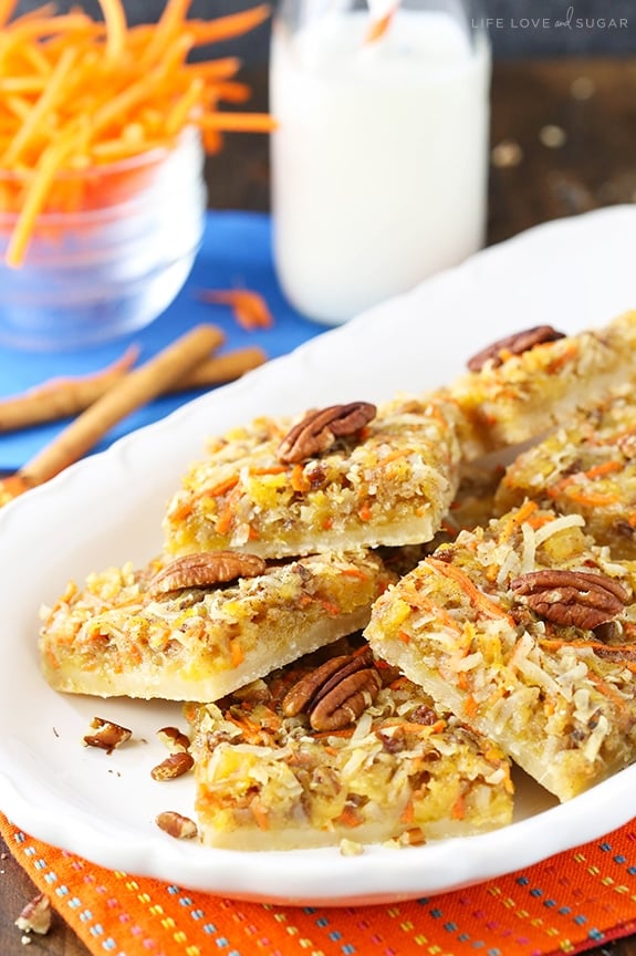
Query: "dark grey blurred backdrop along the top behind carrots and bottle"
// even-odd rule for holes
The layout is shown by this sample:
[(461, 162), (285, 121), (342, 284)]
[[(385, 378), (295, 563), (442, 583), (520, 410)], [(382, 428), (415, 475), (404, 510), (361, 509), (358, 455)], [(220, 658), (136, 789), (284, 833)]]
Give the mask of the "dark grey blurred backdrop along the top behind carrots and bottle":
[[(66, 10), (73, 0), (60, 0)], [(216, 18), (253, 7), (258, 0), (192, 0), (190, 15)], [(40, 6), (41, 0), (20, 0), (18, 12)], [(131, 23), (156, 20), (164, 0), (124, 0)], [(91, 15), (100, 17), (97, 0), (80, 4)], [(272, 6), (275, 7), (275, 0)], [(496, 59), (562, 55), (630, 55), (636, 54), (636, 0), (481, 0), (483, 17), (493, 23), (488, 28)], [(549, 22), (544, 23), (544, 19)], [(533, 20), (542, 22), (533, 23)], [(612, 20), (617, 25), (613, 25)], [(570, 25), (556, 25), (557, 21)], [(577, 25), (576, 21), (583, 21)], [(618, 25), (627, 21), (625, 27)], [(262, 64), (268, 58), (269, 27), (254, 30), (249, 37), (228, 44), (234, 55), (249, 64)], [(219, 55), (225, 44), (216, 48)]]

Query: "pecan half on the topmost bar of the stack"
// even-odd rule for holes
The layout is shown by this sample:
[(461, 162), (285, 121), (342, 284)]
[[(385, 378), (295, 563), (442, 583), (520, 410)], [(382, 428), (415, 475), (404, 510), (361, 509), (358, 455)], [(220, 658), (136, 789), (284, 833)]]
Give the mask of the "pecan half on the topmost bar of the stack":
[(330, 405), (309, 412), (279, 445), (279, 459), (283, 465), (292, 465), (326, 451), (336, 438), (355, 435), (376, 414), (376, 406), (369, 402), (350, 402), (348, 405)]

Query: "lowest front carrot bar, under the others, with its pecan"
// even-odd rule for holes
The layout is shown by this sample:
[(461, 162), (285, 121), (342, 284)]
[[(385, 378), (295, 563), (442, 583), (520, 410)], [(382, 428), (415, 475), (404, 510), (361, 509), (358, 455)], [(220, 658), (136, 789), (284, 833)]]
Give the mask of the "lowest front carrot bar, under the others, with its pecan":
[(368, 647), (304, 658), (189, 717), (210, 846), (409, 845), (511, 822), (501, 749)]

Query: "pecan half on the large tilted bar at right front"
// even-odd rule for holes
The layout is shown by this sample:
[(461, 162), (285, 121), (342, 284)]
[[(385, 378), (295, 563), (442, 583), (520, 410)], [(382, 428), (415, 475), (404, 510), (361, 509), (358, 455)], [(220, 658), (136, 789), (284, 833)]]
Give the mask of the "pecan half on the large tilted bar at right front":
[(540, 617), (588, 631), (612, 621), (629, 601), (614, 578), (588, 571), (531, 571), (510, 588)]

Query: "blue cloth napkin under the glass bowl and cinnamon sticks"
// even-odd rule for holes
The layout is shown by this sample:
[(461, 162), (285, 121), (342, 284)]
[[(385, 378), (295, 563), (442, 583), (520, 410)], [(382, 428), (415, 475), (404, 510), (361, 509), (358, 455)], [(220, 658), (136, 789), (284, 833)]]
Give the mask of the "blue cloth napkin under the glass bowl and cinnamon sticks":
[[(263, 295), (274, 316), (272, 329), (246, 332), (237, 324), (229, 306), (211, 305), (198, 298), (202, 289), (233, 288), (250, 289)], [(201, 322), (219, 325), (226, 333), (226, 343), (219, 354), (246, 345), (260, 345), (270, 358), (291, 352), (325, 331), (325, 326), (294, 311), (279, 287), (272, 262), (269, 216), (208, 212), (201, 249), (184, 289), (155, 322), (139, 332), (77, 351), (37, 352), (0, 345), (0, 397), (23, 392), (60, 375), (95, 372), (118, 358), (133, 342), (140, 346), (138, 363), (143, 363)], [(121, 422), (94, 450), (107, 447), (142, 425), (163, 418), (197, 394), (200, 393), (157, 398)], [(65, 424), (51, 423), (15, 433), (0, 433), (0, 468), (19, 468)]]

